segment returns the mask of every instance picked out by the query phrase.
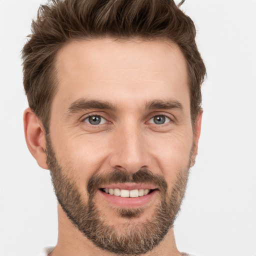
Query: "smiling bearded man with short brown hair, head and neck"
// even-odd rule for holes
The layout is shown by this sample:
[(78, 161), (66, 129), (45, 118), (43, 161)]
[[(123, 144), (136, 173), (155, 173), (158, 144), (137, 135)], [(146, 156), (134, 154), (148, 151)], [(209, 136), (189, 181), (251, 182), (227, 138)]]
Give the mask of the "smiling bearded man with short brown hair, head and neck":
[(58, 241), (40, 255), (187, 255), (173, 222), (197, 152), (205, 67), (172, 0), (55, 0), (23, 48), (28, 149)]

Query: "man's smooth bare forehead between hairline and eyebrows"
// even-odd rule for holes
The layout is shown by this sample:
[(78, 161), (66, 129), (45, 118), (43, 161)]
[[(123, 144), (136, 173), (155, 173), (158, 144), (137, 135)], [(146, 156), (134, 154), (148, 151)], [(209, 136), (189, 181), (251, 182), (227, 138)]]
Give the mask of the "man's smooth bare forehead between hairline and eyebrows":
[(186, 62), (172, 42), (72, 41), (59, 50), (55, 65), (58, 89), (52, 107), (64, 108), (81, 97), (120, 105), (124, 98), (134, 104), (184, 96), (189, 101)]

